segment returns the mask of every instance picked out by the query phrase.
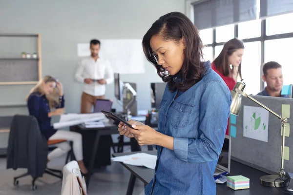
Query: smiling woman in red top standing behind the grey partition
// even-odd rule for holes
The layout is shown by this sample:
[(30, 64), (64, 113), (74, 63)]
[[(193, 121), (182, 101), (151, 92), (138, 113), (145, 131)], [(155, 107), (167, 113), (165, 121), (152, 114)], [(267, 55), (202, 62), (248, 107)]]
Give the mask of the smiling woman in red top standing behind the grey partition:
[[(237, 78), (241, 75), (241, 62), (244, 54), (242, 40), (234, 38), (225, 43), (219, 56), (211, 63), (211, 68), (220, 75), (231, 91), (236, 85)], [(229, 135), (229, 120), (226, 129)]]

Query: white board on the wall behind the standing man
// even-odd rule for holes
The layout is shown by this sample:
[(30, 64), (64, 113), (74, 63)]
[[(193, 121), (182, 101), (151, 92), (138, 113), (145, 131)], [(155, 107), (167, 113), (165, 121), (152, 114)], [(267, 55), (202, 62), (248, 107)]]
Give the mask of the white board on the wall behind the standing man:
[[(77, 45), (78, 56), (89, 56), (89, 43)], [(101, 39), (99, 56), (109, 60), (115, 73), (145, 73), (142, 39)]]

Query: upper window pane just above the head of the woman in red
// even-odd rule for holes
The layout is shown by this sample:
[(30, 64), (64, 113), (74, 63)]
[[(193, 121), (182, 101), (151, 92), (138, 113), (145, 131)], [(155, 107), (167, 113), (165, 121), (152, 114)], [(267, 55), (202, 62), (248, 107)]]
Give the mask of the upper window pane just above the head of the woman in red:
[(252, 20), (240, 22), (238, 24), (238, 38), (250, 39), (260, 37), (261, 35), (261, 20)]

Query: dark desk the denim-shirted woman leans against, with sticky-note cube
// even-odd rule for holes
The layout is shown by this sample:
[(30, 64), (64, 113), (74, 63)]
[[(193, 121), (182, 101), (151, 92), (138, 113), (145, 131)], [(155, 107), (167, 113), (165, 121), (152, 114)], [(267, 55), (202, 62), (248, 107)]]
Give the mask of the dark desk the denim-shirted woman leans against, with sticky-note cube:
[[(157, 151), (149, 151), (145, 152), (150, 155), (157, 155)], [(112, 156), (124, 156), (124, 155), (131, 155), (134, 153), (115, 153)], [(126, 195), (132, 195), (134, 183), (136, 177), (139, 178), (142, 182), (144, 182), (145, 186), (150, 182), (150, 180), (154, 176), (154, 170), (148, 169), (145, 167), (138, 167), (127, 165), (120, 162), (126, 169), (131, 172), (131, 176), (128, 183), (128, 188)], [(224, 184), (217, 184), (217, 194), (219, 195), (284, 195), (284, 193), (279, 192), (274, 187), (266, 187), (260, 184), (259, 177), (268, 175), (264, 172), (259, 170), (253, 169), (249, 166), (231, 160), (231, 168), (230, 168), (230, 176), (237, 176), (242, 175), (250, 178), (250, 189), (244, 190), (233, 190), (227, 187), (227, 183)], [(281, 188), (285, 190), (284, 188)]]

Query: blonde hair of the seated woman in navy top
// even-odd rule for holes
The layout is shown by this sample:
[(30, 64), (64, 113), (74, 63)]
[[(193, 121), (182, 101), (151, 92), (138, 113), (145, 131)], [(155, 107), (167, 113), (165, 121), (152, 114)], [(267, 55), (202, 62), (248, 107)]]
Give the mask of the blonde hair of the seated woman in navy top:
[[(44, 83), (47, 83), (47, 82), (55, 82), (55, 83), (57, 83), (57, 80), (56, 80), (56, 78), (48, 76), (48, 75), (43, 77), (43, 78), (41, 78), (39, 80), (39, 82), (30, 90), (30, 92), (26, 96), (26, 98), (25, 98), (26, 101), (28, 100), (29, 96), (32, 93), (39, 92), (41, 94), (40, 96), (44, 95), (44, 92), (43, 92), (43, 89), (42, 89), (42, 83), (43, 82)], [(55, 108), (56, 106), (58, 106), (60, 104), (59, 90), (58, 90), (57, 87), (54, 88), (54, 90), (53, 90), (53, 92), (51, 94), (45, 95), (45, 96), (46, 96), (46, 99), (49, 102), (49, 107), (50, 108)]]

